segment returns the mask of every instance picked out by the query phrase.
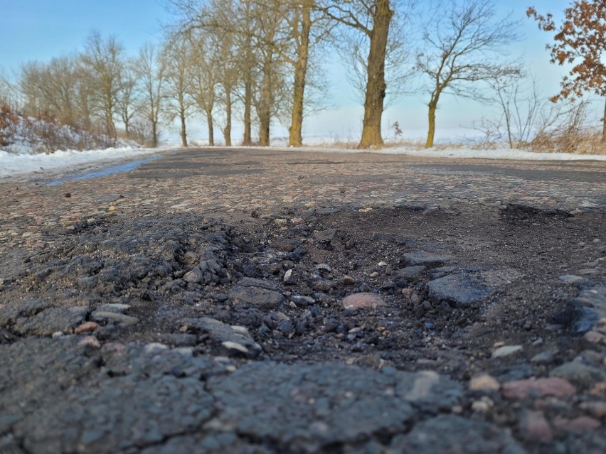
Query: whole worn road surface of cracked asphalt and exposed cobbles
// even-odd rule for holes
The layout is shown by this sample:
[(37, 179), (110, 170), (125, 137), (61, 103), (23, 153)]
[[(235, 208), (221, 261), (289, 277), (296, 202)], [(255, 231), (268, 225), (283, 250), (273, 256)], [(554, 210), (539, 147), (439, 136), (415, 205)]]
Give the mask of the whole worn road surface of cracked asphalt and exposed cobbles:
[(158, 156), (0, 182), (0, 453), (606, 450), (606, 163)]

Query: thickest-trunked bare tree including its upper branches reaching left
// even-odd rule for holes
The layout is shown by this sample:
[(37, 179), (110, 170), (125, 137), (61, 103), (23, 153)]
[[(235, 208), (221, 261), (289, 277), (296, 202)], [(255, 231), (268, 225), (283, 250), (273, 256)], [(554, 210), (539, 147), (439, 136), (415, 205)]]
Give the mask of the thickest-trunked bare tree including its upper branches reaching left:
[(386, 97), (385, 63), (391, 21), (390, 0), (325, 0), (323, 11), (334, 21), (368, 38), (362, 138), (358, 148), (383, 145), (381, 118)]

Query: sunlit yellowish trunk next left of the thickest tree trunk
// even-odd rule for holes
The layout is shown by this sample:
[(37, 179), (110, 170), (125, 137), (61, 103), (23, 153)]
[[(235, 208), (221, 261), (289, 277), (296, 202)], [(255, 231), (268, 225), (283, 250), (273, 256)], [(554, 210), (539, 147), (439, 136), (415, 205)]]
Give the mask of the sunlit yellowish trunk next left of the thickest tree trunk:
[(303, 145), (303, 104), (305, 100), (305, 79), (307, 77), (307, 60), (309, 58), (309, 31), (312, 28), (312, 7), (305, 2), (302, 7), (301, 36), (299, 59), (294, 67), (294, 87), (292, 93), (292, 121), (289, 129), (289, 146)]

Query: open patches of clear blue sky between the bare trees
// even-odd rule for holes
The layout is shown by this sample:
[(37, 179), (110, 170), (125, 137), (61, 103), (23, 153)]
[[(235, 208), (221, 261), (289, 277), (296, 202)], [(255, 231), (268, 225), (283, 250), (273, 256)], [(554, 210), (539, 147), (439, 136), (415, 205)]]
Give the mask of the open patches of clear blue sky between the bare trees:
[[(134, 55), (144, 43), (159, 40), (161, 24), (171, 20), (165, 3), (162, 0), (0, 0), (0, 68), (5, 75), (10, 75), (29, 60), (46, 61), (78, 52), (92, 28), (100, 30), (103, 36), (115, 35), (127, 53)], [(496, 5), (499, 13), (511, 11), (514, 18), (522, 22), (522, 39), (512, 45), (511, 55), (523, 55), (527, 69), (536, 75), (545, 95), (555, 94), (563, 70), (548, 62), (545, 44), (549, 36), (526, 19), (525, 11), (528, 6), (536, 6), (538, 11), (552, 11), (558, 17), (570, 5), (570, 0), (496, 1)], [(307, 135), (356, 137), (359, 134), (362, 110), (340, 66), (337, 62), (326, 68), (331, 80), (331, 107), (309, 118)], [(404, 129), (424, 129), (425, 97), (398, 99), (386, 110), (385, 124), (398, 121)], [(489, 107), (444, 98), (440, 101), (437, 127), (467, 128), (474, 120), (489, 114)], [(201, 134), (203, 130), (199, 128)]]

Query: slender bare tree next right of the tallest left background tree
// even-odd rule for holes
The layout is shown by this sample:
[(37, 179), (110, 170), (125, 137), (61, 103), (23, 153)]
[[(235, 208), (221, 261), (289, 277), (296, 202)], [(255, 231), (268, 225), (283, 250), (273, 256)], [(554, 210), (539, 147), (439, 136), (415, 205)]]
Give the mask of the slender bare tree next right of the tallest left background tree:
[(160, 110), (164, 100), (166, 60), (159, 58), (154, 45), (145, 44), (139, 51), (137, 72), (142, 91), (142, 111), (151, 126), (151, 146), (156, 148), (160, 137)]

